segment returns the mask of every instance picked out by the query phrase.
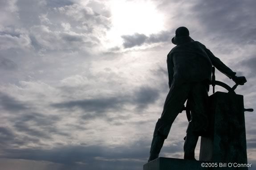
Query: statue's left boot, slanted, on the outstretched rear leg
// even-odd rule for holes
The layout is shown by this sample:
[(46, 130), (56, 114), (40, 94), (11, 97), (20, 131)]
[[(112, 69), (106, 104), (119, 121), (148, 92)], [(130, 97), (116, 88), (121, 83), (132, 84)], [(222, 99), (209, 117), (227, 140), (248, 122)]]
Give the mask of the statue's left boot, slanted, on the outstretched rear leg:
[(153, 139), (151, 143), (150, 156), (149, 156), (148, 162), (158, 158), (160, 150), (163, 147), (163, 142), (166, 139), (166, 137), (158, 133), (159, 128), (162, 126), (163, 126), (163, 121), (161, 119), (158, 119), (154, 128), (154, 134), (153, 134)]

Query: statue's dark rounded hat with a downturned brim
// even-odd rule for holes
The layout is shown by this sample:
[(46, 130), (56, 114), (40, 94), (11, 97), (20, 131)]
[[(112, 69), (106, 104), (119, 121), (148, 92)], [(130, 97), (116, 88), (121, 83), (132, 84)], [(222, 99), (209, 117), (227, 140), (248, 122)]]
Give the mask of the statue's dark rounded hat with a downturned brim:
[(175, 31), (175, 37), (171, 39), (171, 42), (175, 45), (191, 41), (193, 41), (193, 39), (191, 39), (191, 37), (189, 36), (189, 31), (186, 27), (177, 28)]

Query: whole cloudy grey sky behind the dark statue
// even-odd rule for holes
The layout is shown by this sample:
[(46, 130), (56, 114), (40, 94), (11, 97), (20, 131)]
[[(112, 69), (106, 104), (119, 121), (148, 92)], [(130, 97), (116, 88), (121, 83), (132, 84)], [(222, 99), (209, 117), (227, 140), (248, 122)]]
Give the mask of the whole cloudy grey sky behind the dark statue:
[[(236, 93), (255, 109), (255, 6), (254, 0), (0, 1), (1, 169), (141, 170), (169, 90), (166, 59), (180, 26), (247, 78)], [(216, 79), (234, 85), (218, 71)], [(185, 115), (178, 115), (160, 156), (183, 158)], [(255, 111), (246, 112), (249, 170), (256, 170), (255, 122)]]

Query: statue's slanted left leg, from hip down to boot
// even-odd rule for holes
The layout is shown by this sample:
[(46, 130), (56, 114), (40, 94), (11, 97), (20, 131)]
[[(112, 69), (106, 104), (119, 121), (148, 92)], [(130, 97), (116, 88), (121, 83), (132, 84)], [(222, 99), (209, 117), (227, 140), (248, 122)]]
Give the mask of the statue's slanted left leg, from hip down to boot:
[(163, 147), (163, 142), (170, 132), (171, 125), (187, 100), (189, 87), (187, 83), (177, 86), (173, 85), (171, 87), (163, 107), (161, 118), (158, 119), (154, 128), (148, 162), (158, 158), (160, 150)]

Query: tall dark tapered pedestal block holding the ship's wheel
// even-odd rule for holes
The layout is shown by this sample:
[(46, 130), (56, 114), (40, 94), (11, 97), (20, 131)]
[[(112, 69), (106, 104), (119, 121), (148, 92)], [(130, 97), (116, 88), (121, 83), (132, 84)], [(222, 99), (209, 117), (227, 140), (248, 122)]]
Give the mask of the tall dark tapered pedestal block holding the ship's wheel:
[[(199, 160), (246, 164), (243, 95), (218, 91), (209, 97), (209, 103), (211, 128), (209, 136), (201, 137)], [(229, 168), (229, 170), (236, 169)], [(247, 167), (239, 168), (239, 170), (247, 169)]]

